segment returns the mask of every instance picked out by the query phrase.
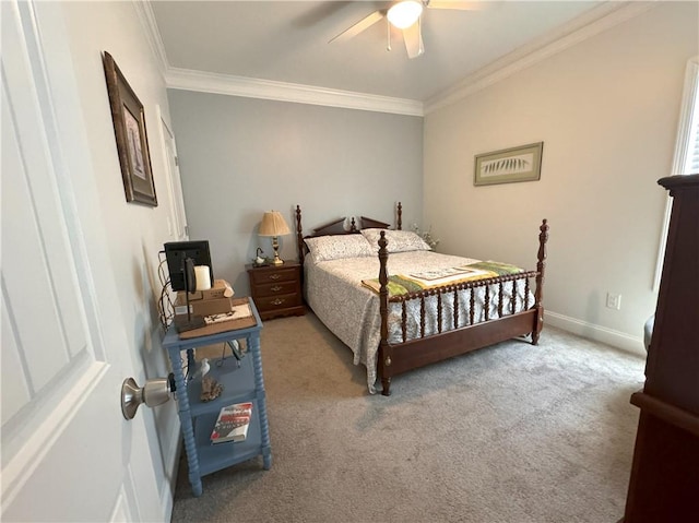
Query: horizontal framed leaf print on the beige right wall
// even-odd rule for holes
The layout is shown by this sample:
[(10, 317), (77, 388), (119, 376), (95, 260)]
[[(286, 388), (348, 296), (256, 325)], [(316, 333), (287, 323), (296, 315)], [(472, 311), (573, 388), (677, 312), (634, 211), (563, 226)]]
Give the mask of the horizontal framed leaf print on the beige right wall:
[(475, 156), (474, 186), (535, 181), (542, 175), (544, 142), (503, 148)]

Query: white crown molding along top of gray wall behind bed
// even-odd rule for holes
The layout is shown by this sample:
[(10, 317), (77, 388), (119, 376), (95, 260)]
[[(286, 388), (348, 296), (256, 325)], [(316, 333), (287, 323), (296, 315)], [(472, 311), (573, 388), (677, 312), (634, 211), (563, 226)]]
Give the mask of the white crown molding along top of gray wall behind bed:
[(404, 98), (390, 98), (351, 91), (316, 87), (312, 85), (276, 82), (272, 80), (208, 73), (189, 69), (168, 68), (165, 74), (168, 88), (198, 91), (248, 98), (262, 98), (297, 104), (321, 105), (344, 109), (424, 116), (423, 103)]

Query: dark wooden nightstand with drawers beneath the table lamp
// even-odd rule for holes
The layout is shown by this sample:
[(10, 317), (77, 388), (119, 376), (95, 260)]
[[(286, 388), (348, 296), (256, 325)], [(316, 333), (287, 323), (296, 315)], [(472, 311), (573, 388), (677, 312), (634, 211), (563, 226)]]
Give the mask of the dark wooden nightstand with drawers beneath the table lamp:
[(250, 294), (260, 318), (306, 313), (301, 300), (301, 265), (287, 261), (283, 265), (245, 266), (250, 276)]

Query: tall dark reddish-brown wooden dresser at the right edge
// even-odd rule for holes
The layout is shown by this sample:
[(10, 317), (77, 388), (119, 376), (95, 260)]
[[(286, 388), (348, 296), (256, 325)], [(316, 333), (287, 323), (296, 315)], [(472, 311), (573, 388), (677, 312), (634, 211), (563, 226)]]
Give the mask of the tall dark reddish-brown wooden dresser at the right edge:
[(625, 523), (699, 521), (699, 175), (659, 180), (673, 207)]

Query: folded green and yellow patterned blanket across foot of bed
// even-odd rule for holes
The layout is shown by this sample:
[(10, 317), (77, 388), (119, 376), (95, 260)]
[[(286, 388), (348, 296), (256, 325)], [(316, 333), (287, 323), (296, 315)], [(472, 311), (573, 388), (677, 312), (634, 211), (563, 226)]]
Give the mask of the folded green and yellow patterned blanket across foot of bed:
[[(389, 296), (401, 296), (410, 293), (417, 293), (427, 288), (441, 287), (443, 285), (455, 285), (475, 280), (497, 277), (505, 274), (517, 274), (523, 272), (522, 269), (495, 261), (470, 263), (455, 268), (436, 269), (413, 274), (390, 275), (388, 282)], [(363, 280), (362, 285), (379, 293), (381, 284), (379, 278)]]

